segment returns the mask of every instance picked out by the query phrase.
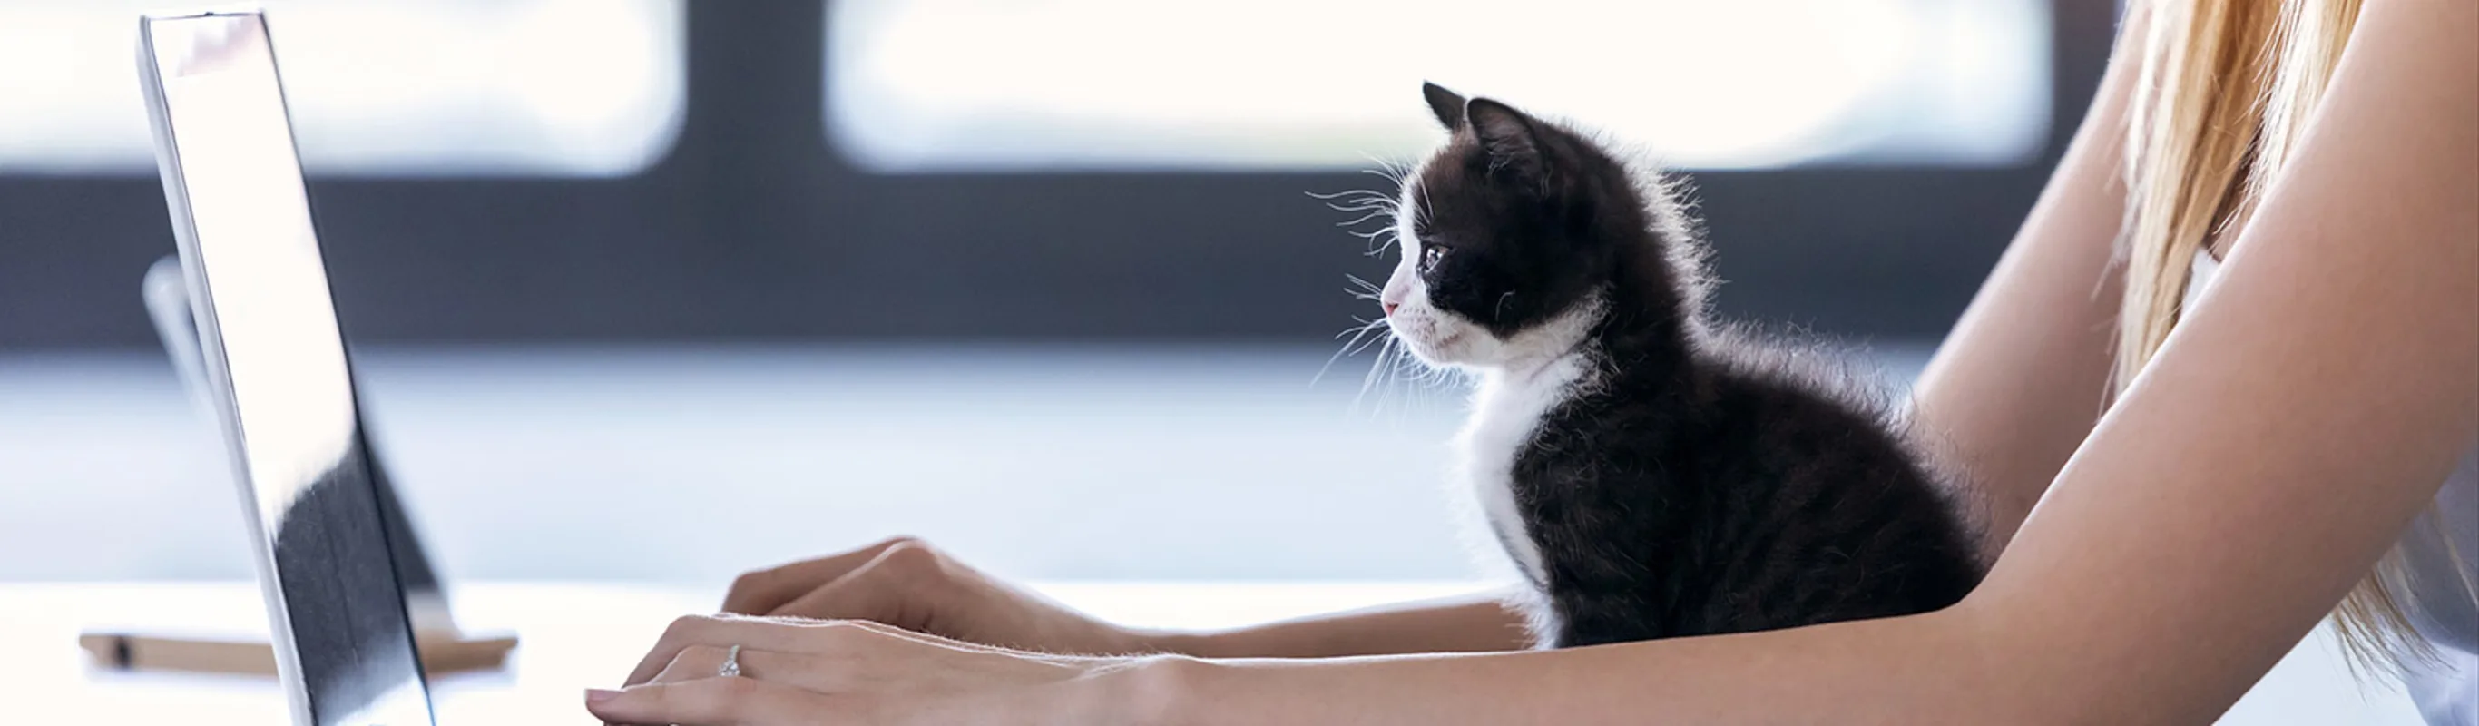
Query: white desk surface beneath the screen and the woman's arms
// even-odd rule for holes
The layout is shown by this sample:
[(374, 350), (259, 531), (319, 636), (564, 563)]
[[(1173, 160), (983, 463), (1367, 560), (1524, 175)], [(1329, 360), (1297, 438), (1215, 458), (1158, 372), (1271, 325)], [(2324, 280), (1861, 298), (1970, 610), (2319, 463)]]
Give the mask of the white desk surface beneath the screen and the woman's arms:
[[(1378, 602), (1470, 592), (1468, 582), (1056, 582), (1041, 592), (1106, 619), (1150, 627), (1232, 627)], [(456, 590), (456, 619), (518, 632), (508, 671), (431, 684), (439, 724), (592, 724), (580, 701), (610, 686), (662, 627), (707, 612), (716, 595), (627, 585), (486, 582)], [(87, 664), (79, 629), (265, 632), (248, 582), (0, 585), (0, 704), (12, 724), (283, 724), (268, 679), (119, 674)], [(2420, 724), (2400, 691), (2358, 689), (2318, 629), (2253, 691), (2226, 726)]]

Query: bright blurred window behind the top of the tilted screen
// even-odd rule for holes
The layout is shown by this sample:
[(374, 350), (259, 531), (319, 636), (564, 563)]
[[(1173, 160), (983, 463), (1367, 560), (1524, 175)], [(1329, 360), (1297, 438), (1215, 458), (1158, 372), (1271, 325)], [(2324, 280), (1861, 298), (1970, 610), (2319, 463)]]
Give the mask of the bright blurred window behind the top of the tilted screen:
[[(154, 168), (139, 12), (0, 0), (0, 173)], [(679, 131), (679, 0), (265, 0), (302, 164), (322, 173), (620, 176)]]

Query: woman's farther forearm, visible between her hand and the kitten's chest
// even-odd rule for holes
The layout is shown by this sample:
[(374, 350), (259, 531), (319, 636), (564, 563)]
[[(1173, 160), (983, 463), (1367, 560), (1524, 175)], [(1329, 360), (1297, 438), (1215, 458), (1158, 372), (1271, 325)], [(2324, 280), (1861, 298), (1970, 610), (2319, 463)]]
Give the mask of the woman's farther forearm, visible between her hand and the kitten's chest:
[(1388, 605), (1227, 632), (1165, 632), (1148, 639), (1160, 652), (1215, 659), (1500, 652), (1532, 644), (1525, 617), (1487, 595)]

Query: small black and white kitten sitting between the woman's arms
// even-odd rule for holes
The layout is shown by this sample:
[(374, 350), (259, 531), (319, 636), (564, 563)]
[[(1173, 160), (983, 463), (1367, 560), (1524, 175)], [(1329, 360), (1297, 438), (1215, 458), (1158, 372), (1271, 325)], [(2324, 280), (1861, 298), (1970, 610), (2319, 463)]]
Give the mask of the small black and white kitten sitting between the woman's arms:
[(1981, 577), (1946, 483), (1810, 349), (1708, 320), (1703, 243), (1653, 176), (1428, 84), (1450, 139), (1403, 178), (1381, 305), (1477, 377), (1458, 436), (1542, 647), (1929, 612)]

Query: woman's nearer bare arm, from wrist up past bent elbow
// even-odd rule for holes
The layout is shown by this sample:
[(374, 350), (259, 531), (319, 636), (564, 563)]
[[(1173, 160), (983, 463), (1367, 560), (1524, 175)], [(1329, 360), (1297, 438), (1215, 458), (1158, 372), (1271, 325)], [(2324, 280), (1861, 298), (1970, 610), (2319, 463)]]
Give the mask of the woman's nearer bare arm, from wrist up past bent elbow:
[(2479, 436), (2474, 22), (2472, 2), (2365, 5), (2221, 282), (1963, 605), (1572, 652), (1158, 662), (1170, 711), (1195, 724), (2211, 721)]

